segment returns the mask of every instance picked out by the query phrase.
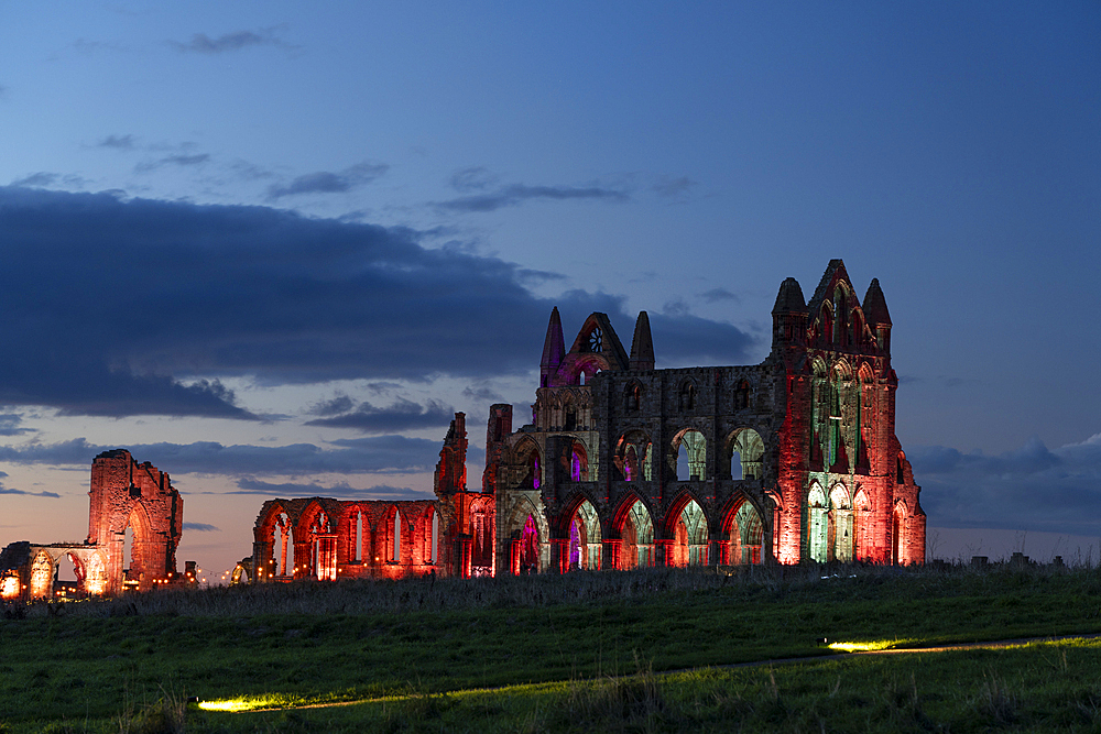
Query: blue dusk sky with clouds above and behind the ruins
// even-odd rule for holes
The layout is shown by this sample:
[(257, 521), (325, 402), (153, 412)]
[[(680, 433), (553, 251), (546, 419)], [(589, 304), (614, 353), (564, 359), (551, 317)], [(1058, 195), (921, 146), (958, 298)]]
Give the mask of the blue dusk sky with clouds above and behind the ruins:
[(879, 278), (930, 555), (1101, 558), (1097, 2), (0, 0), (0, 546), (92, 458), (184, 495), (430, 496), (558, 306), (754, 364)]

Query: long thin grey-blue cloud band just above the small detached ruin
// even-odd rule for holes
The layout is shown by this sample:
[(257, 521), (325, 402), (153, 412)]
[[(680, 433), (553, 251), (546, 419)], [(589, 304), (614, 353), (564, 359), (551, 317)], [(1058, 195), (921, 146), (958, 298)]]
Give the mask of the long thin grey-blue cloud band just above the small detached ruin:
[[(336, 448), (313, 443), (291, 446), (225, 446), (195, 443), (139, 443), (126, 447), (138, 461), (151, 461), (170, 474), (228, 476), (301, 476), (306, 474), (403, 474), (432, 471), (439, 458), (439, 441), (404, 436), (371, 436), (331, 441)], [(99, 453), (118, 448), (95, 446), (84, 438), (58, 443), (0, 446), (0, 461), (17, 464), (88, 467)], [(469, 451), (471, 460), (484, 456)]]

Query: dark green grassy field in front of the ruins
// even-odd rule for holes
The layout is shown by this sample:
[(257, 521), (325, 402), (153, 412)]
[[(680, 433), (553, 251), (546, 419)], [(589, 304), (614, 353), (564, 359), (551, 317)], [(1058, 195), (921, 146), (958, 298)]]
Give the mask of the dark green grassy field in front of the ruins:
[[(821, 637), (929, 646), (1095, 632), (1101, 572), (1084, 568), (164, 592), (0, 620), (0, 731), (1089, 731), (1101, 727), (1093, 642), (698, 669), (831, 653)], [(611, 678), (629, 673), (640, 675)], [(388, 700), (225, 713), (188, 709), (188, 695)]]

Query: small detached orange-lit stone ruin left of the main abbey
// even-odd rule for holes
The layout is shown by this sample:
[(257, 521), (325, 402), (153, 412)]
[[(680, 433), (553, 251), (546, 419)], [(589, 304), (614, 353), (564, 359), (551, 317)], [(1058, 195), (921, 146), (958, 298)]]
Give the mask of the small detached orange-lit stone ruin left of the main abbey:
[[(88, 538), (83, 544), (13, 543), (0, 554), (0, 598), (51, 599), (62, 593), (58, 565), (68, 557), (76, 595), (118, 594), (184, 581), (176, 573), (184, 501), (168, 475), (126, 449), (105, 451), (91, 464)], [(133, 535), (126, 562), (126, 535)], [(194, 563), (189, 563), (194, 566)], [(188, 577), (194, 580), (194, 573)]]

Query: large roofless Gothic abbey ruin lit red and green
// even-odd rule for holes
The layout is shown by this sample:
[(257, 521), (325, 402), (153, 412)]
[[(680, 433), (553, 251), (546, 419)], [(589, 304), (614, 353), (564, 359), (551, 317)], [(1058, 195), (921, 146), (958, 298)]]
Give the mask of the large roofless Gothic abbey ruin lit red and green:
[(924, 562), (879, 281), (861, 300), (832, 260), (809, 303), (784, 281), (772, 320), (760, 364), (655, 370), (645, 311), (630, 352), (604, 314), (567, 351), (555, 308), (532, 421), (513, 430), (512, 406), (490, 407), (480, 490), (458, 413), (435, 502), (269, 502), (235, 576)]

